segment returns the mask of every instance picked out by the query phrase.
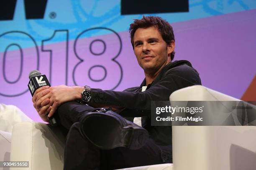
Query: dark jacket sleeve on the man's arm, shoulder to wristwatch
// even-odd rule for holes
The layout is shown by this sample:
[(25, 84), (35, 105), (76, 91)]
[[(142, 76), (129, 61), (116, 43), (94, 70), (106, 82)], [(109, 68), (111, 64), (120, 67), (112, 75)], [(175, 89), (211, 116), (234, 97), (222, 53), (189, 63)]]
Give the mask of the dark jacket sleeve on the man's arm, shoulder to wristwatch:
[[(198, 73), (192, 67), (181, 65), (166, 71), (159, 80), (156, 78), (144, 92), (117, 92), (92, 88), (92, 102), (131, 110), (151, 110), (151, 101), (169, 100), (172, 92), (192, 85), (201, 85)], [(149, 112), (141, 114), (148, 115)]]

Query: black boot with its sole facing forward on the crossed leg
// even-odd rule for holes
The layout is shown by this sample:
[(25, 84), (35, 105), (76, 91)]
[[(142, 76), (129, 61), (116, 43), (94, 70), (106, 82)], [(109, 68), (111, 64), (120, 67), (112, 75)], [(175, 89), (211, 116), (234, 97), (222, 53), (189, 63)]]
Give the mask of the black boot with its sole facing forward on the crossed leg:
[(87, 113), (80, 126), (84, 138), (100, 149), (139, 149), (148, 140), (148, 131), (104, 108)]

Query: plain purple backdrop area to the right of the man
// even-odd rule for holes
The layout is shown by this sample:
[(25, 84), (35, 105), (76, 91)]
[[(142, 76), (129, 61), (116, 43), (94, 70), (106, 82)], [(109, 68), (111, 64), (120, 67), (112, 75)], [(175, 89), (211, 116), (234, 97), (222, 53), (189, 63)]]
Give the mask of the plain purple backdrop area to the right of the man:
[(241, 98), (256, 74), (256, 10), (174, 23), (176, 60), (186, 59), (202, 84)]

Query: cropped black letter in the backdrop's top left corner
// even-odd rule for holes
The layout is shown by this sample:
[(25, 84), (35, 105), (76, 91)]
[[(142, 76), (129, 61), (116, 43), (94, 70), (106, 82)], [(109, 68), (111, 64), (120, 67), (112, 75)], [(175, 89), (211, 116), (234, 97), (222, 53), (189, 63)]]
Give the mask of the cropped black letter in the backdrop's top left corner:
[[(17, 0), (0, 0), (0, 20), (13, 20)], [(47, 0), (23, 0), (26, 19), (43, 19)]]

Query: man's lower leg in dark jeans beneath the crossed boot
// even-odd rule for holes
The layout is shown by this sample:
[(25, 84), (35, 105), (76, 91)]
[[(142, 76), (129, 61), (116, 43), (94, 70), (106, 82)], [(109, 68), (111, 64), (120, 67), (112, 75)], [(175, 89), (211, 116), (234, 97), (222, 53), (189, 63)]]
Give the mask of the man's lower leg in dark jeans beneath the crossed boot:
[(67, 135), (64, 170), (114, 170), (164, 163), (161, 150), (152, 139), (138, 150), (100, 150), (82, 137), (79, 126), (79, 122), (74, 123)]

